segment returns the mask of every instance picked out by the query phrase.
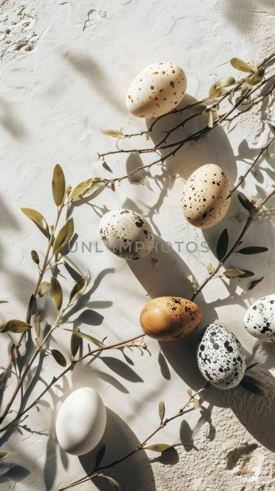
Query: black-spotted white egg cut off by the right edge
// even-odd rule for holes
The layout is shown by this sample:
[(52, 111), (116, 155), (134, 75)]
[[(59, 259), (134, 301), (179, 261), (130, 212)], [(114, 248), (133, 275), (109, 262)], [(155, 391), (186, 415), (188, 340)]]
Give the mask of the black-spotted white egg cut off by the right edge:
[(244, 317), (246, 329), (261, 341), (275, 341), (275, 294), (251, 305)]

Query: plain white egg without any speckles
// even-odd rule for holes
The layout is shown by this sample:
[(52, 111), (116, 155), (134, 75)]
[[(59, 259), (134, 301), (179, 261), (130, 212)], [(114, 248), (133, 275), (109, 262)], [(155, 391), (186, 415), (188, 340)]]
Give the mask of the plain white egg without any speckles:
[(56, 418), (59, 445), (72, 455), (83, 455), (100, 442), (106, 426), (106, 409), (91, 387), (75, 390), (63, 402)]

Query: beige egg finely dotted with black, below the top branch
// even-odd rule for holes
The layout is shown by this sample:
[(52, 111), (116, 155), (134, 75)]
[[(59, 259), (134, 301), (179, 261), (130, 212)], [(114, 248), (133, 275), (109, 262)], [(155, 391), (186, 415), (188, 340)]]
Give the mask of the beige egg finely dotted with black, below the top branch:
[(199, 228), (221, 221), (230, 205), (230, 183), (221, 167), (206, 164), (187, 179), (181, 197), (185, 218)]

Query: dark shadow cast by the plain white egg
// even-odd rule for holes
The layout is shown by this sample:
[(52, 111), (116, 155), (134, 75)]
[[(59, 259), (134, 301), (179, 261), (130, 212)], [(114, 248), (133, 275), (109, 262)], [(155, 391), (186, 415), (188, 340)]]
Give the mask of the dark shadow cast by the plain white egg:
[[(106, 408), (106, 411), (106, 429), (100, 443), (88, 454), (78, 457), (87, 474), (92, 472), (95, 467), (97, 453), (103, 444), (106, 444), (106, 450), (101, 466), (121, 459), (140, 443), (137, 436), (123, 419), (109, 408)], [(138, 489), (156, 491), (150, 460), (143, 450), (132, 455), (121, 464), (102, 470), (102, 473), (118, 481), (125, 491), (137, 489), (137, 483)], [(92, 482), (100, 491), (110, 491), (112, 489), (107, 479), (95, 478)]]

